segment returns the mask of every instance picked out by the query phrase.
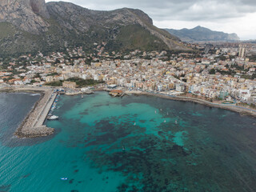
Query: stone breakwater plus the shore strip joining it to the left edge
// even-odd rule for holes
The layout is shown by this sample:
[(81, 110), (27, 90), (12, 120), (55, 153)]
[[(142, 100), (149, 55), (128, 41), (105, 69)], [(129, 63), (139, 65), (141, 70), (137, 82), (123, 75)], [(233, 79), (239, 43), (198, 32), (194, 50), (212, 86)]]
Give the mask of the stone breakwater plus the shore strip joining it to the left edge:
[(52, 106), (51, 97), (53, 91), (50, 89), (36, 87), (13, 87), (12, 89), (1, 90), (0, 93), (34, 93), (40, 94), (40, 98), (34, 103), (30, 112), (22, 120), (15, 130), (14, 135), (18, 138), (38, 138), (54, 134), (54, 129), (43, 125), (48, 114), (49, 106)]

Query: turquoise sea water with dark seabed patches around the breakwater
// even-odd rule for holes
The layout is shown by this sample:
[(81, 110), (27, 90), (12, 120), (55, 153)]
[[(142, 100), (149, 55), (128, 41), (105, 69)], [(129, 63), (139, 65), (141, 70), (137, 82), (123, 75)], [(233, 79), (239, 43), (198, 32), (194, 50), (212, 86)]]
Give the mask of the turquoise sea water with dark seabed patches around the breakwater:
[(98, 92), (61, 96), (53, 136), (14, 138), (38, 98), (0, 94), (1, 192), (256, 191), (255, 118)]

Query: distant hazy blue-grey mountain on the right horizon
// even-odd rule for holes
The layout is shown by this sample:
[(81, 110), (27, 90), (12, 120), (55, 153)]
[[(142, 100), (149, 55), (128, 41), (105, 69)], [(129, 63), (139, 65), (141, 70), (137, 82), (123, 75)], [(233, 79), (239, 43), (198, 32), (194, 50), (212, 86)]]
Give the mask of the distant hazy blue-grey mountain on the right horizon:
[(182, 30), (172, 30), (172, 29), (165, 29), (170, 34), (181, 38), (182, 41), (185, 42), (211, 42), (211, 41), (227, 41), (227, 42), (234, 42), (239, 41), (237, 34), (226, 34), (219, 31), (209, 30), (202, 26), (197, 26), (194, 29), (182, 29)]

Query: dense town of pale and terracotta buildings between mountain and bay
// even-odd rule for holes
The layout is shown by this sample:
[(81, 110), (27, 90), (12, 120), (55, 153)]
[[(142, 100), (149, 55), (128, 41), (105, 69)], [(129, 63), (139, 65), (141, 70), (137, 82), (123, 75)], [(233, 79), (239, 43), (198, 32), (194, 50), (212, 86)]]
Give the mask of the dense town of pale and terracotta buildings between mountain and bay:
[[(254, 46), (250, 47), (250, 51)], [(249, 52), (250, 52), (249, 51)], [(14, 59), (0, 71), (0, 85), (94, 79), (127, 90), (193, 94), (209, 100), (256, 103), (256, 62), (246, 58), (246, 46), (214, 46), (205, 53), (170, 54), (166, 51), (86, 54), (82, 47), (49, 56)], [(1, 66), (1, 63), (0, 63)]]

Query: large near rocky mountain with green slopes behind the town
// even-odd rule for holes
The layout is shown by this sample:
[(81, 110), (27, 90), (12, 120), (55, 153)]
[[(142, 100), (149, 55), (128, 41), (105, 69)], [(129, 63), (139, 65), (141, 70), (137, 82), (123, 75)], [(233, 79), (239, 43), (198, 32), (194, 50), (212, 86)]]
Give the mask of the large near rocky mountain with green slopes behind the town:
[[(106, 50), (186, 50), (142, 12), (88, 10), (69, 2), (0, 1), (0, 54), (63, 50), (106, 42)], [(105, 44), (105, 43), (104, 43)]]

